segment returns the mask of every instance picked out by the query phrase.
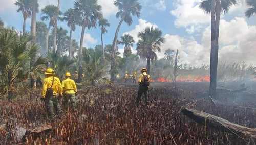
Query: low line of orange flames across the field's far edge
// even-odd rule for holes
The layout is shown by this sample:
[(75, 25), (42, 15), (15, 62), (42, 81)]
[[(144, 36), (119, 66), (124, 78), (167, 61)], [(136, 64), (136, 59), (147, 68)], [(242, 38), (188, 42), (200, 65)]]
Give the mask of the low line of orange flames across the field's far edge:
[[(172, 80), (159, 77), (156, 80), (152, 80), (152, 82), (172, 82)], [(177, 78), (177, 82), (210, 82), (210, 76), (181, 76)]]

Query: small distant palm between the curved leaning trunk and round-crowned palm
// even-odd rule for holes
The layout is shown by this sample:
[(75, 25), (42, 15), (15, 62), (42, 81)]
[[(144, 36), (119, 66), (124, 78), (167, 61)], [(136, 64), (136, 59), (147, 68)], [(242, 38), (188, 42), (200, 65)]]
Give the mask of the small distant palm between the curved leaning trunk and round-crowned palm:
[(131, 47), (135, 43), (133, 36), (129, 34), (125, 34), (121, 37), (121, 44), (124, 45), (124, 53), (123, 53), (123, 58), (127, 58), (132, 54)]

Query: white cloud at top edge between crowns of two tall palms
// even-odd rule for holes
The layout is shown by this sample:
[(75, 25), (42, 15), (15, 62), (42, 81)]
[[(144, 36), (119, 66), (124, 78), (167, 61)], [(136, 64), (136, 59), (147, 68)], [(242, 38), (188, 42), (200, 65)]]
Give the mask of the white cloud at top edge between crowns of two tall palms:
[(114, 5), (114, 0), (98, 0), (102, 6), (102, 13), (104, 17), (109, 17), (117, 13), (118, 8)]

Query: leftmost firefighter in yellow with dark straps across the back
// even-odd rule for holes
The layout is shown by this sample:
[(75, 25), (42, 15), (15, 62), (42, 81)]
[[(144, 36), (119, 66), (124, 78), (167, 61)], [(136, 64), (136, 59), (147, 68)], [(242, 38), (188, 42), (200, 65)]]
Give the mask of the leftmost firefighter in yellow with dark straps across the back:
[(45, 102), (47, 113), (50, 119), (54, 118), (54, 109), (56, 115), (61, 115), (62, 110), (59, 101), (62, 98), (62, 86), (59, 78), (55, 77), (54, 70), (48, 68), (45, 72), (45, 79), (42, 83), (42, 97), (41, 100)]

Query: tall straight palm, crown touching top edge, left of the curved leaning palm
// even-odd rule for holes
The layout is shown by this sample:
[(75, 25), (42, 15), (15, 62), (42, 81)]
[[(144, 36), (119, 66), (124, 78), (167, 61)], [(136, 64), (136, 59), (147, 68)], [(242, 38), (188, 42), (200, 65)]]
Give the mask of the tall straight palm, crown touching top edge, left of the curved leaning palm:
[(82, 17), (79, 25), (82, 26), (80, 47), (79, 47), (79, 72), (78, 72), (78, 82), (82, 80), (82, 48), (83, 48), (83, 38), (86, 28), (89, 30), (96, 28), (97, 21), (103, 17), (101, 12), (101, 6), (98, 4), (98, 0), (76, 0), (74, 3), (74, 8), (78, 15)]

